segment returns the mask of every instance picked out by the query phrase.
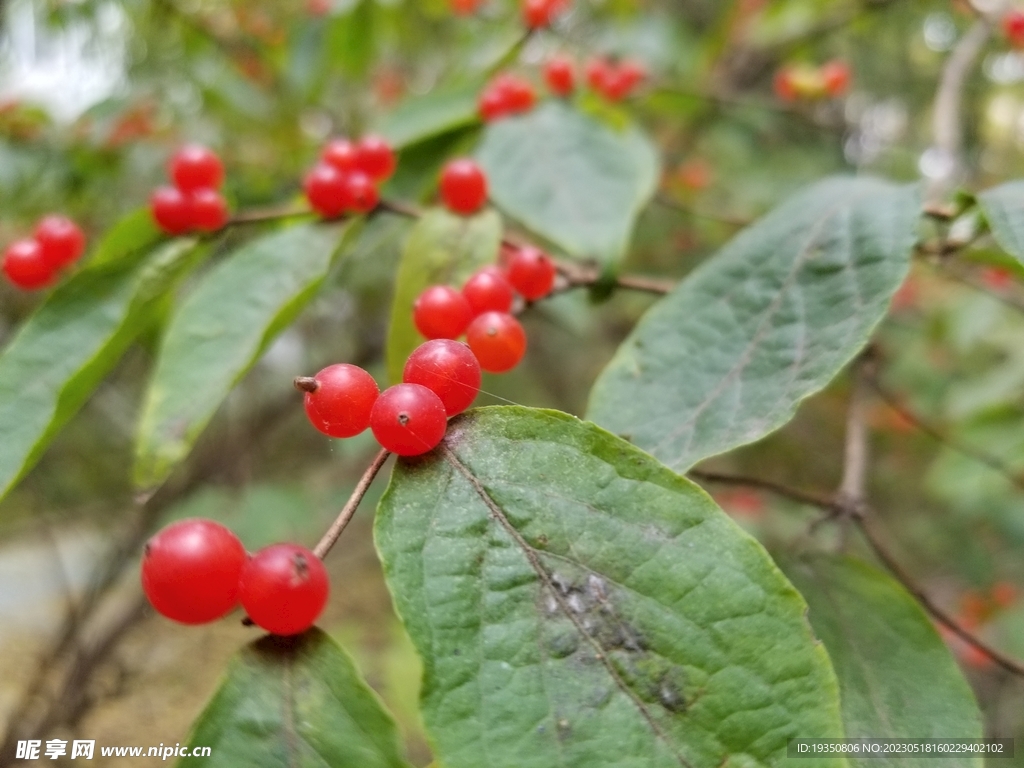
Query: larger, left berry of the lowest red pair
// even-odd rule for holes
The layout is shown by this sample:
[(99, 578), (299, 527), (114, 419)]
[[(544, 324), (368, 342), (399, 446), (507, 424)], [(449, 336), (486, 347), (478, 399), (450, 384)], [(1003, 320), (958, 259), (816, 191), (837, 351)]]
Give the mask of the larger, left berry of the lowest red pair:
[(245, 547), (213, 520), (171, 523), (142, 555), (142, 591), (160, 613), (181, 624), (220, 618), (239, 602)]

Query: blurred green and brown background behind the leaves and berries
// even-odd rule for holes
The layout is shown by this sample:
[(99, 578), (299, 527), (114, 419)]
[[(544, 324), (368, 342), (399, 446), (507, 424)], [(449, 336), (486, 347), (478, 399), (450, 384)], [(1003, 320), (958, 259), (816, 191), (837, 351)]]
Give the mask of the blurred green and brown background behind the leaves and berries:
[[(646, 65), (649, 80), (629, 103), (589, 108), (609, 119), (632, 112), (662, 152), (660, 188), (625, 268), (681, 276), (822, 175), (946, 174), (931, 106), (975, 12), (945, 0), (575, 0), (513, 69), (540, 84), (539, 66), (555, 51)], [(288, 204), (325, 139), (386, 128), (395, 110), (438, 90), (474, 93), (480, 72), (522, 35), (507, 0), (482, 0), (469, 16), (446, 0), (6, 0), (0, 14), (0, 245), (49, 212), (73, 216), (94, 240), (144, 205), (185, 140), (220, 153), (232, 208)], [(853, 73), (845, 97), (791, 104), (774, 95), (779, 67), (837, 58)], [(1024, 53), (995, 34), (964, 97), (968, 185), (1024, 175)], [(441, 160), (470, 150), (478, 131), (469, 121), (408, 147), (388, 196), (431, 200)], [(0, 504), (0, 733), (108, 745), (184, 739), (224, 663), (256, 631), (233, 618), (184, 628), (148, 611), (140, 538), (206, 515), (251, 547), (316, 541), (375, 445), (311, 429), (291, 380), (342, 360), (385, 380), (408, 228), (369, 222), (355, 255), (230, 395), (159, 499), (143, 507), (129, 470), (154, 330)], [(874, 399), (871, 497), (892, 548), (936, 600), (1024, 657), (1024, 492), (951, 447), (977, 446), (1011, 473), (1024, 470), (1024, 271), (983, 249), (973, 258), (957, 273), (916, 264), (894, 302), (882, 378), (935, 434)], [(0, 285), (0, 344), (38, 301)], [(525, 317), (524, 364), (487, 378), (478, 401), (581, 414), (648, 303), (582, 292), (545, 302)], [(835, 488), (846, 396), (840, 382), (781, 432), (709, 467)], [(373, 549), (382, 489), (378, 481), (328, 560), (334, 593), (321, 624), (355, 654), (399, 718), (412, 759), (426, 765), (418, 662)], [(769, 547), (806, 536), (813, 519), (765, 494), (713, 490)], [(1024, 684), (964, 646), (954, 651), (989, 733), (1024, 737)], [(1000, 765), (1024, 765), (1018, 753)], [(12, 754), (0, 753), (0, 765)]]

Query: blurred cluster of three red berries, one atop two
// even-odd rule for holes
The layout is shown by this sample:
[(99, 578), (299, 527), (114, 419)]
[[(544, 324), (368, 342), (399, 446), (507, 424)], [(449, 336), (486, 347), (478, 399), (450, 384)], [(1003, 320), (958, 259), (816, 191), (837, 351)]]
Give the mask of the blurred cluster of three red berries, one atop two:
[(168, 234), (215, 232), (227, 223), (227, 203), (218, 189), (224, 166), (213, 152), (186, 144), (171, 157), (173, 186), (158, 187), (150, 199), (157, 224)]

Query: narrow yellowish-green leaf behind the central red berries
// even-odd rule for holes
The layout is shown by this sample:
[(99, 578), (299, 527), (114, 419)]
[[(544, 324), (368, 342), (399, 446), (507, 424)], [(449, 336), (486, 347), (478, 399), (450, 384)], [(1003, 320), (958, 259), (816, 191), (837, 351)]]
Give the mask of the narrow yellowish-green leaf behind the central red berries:
[(401, 381), (409, 353), (424, 339), (413, 324), (413, 302), (428, 286), (460, 287), (484, 264), (494, 263), (502, 240), (495, 211), (457, 216), (440, 208), (425, 211), (409, 233), (395, 276), (387, 337), (388, 376)]

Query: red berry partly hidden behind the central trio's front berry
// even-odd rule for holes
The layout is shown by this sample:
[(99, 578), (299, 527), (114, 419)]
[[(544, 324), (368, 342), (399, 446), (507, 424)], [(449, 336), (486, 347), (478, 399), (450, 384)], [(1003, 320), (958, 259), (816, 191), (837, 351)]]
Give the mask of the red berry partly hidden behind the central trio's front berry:
[(480, 391), (480, 364), (461, 341), (434, 339), (409, 355), (401, 380), (420, 384), (441, 399), (449, 416), (469, 408)]

